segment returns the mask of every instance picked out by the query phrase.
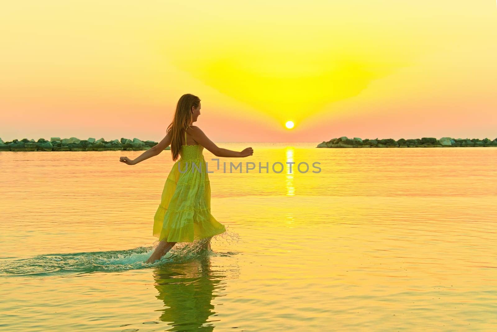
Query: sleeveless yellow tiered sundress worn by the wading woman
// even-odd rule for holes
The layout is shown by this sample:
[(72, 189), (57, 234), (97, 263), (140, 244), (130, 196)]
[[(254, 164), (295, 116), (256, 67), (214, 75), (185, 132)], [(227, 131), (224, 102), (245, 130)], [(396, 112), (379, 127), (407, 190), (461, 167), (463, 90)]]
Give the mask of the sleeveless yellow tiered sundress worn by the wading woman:
[(211, 214), (211, 185), (203, 150), (199, 144), (181, 146), (180, 159), (167, 176), (154, 216), (153, 235), (159, 241), (193, 242), (226, 231)]

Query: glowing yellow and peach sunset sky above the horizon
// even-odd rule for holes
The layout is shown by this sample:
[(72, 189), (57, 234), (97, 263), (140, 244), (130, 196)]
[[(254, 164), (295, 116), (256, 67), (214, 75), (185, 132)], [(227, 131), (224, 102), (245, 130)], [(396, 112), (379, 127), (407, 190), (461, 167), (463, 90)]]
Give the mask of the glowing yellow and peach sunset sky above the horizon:
[(178, 2), (4, 3), (3, 141), (497, 137), (495, 1)]

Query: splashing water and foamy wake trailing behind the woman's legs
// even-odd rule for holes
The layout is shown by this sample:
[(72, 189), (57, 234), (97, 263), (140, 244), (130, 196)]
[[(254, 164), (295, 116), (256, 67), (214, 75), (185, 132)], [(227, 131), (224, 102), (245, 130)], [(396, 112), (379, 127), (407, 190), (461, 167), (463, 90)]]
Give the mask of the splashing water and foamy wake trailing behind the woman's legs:
[[(229, 237), (237, 239), (236, 235)], [(225, 236), (221, 236), (228, 240)], [(214, 240), (214, 239), (213, 239)], [(182, 262), (200, 255), (217, 255), (207, 248), (208, 238), (192, 243), (177, 243), (160, 260), (145, 263), (159, 242), (151, 247), (128, 250), (44, 254), (0, 262), (0, 276), (74, 275), (93, 272), (120, 272)], [(211, 242), (212, 243), (212, 242)], [(224, 252), (222, 255), (226, 255)], [(228, 252), (228, 254), (233, 254)]]

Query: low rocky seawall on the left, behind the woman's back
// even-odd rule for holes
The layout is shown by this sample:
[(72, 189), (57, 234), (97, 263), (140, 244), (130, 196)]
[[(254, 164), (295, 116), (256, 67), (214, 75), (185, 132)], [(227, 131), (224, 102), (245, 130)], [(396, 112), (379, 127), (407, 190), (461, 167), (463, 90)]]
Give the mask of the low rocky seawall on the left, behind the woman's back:
[[(80, 140), (76, 137), (60, 139), (52, 137), (50, 141), (40, 138), (38, 141), (24, 138), (20, 141), (3, 142), (0, 138), (0, 151), (115, 151), (115, 150), (148, 150), (158, 142), (142, 141), (121, 138), (121, 140), (105, 141), (103, 138), (96, 140), (88, 138)], [(170, 150), (167, 147), (165, 150)]]

